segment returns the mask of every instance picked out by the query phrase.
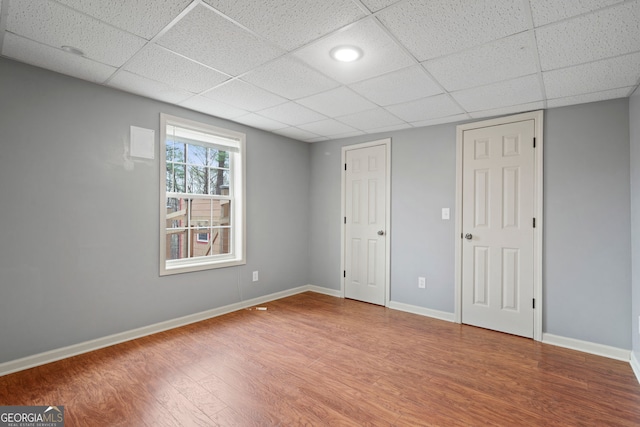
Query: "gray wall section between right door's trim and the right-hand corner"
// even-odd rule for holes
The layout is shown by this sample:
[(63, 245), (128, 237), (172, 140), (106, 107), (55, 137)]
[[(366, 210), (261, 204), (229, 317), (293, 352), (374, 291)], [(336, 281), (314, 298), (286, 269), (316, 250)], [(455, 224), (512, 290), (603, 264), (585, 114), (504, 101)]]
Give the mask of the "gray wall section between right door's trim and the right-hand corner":
[(630, 349), (628, 99), (545, 119), (543, 330)]

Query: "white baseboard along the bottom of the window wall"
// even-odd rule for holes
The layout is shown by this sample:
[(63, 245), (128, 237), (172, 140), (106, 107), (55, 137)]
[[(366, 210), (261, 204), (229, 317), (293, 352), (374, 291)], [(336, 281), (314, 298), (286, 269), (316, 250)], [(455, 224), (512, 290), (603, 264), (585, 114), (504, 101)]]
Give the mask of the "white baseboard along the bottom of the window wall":
[[(265, 295), (258, 298), (253, 298), (246, 301), (240, 301), (234, 304), (226, 305), (224, 307), (214, 308), (211, 310), (203, 311), (200, 313), (190, 314), (188, 316), (179, 317), (177, 319), (171, 319), (160, 323), (155, 323), (149, 326), (143, 326), (141, 328), (132, 329), (130, 331), (120, 332), (117, 334), (109, 335), (106, 337), (97, 338), (91, 341), (85, 341), (79, 344), (70, 345), (68, 347), (62, 347), (55, 350), (46, 351), (44, 353), (34, 354), (32, 356), (23, 357), (21, 359), (10, 360), (8, 362), (0, 363), (0, 377), (3, 375), (12, 374), (14, 372), (23, 371), (25, 369), (34, 368), (36, 366), (44, 365), (47, 363), (55, 362), (57, 360), (66, 359), (67, 357), (77, 356), (79, 354), (88, 353), (90, 351), (99, 350), (101, 348), (109, 347), (115, 344), (120, 344), (125, 341), (131, 341), (136, 338), (142, 338), (147, 335), (156, 334), (158, 332), (166, 331), (180, 326), (189, 325), (191, 323), (200, 322), (202, 320), (211, 319), (213, 317), (221, 316), (223, 314), (231, 313), (233, 311), (242, 310), (248, 307), (253, 307), (258, 304), (264, 304), (265, 302), (274, 301), (280, 298), (296, 295), (302, 292), (313, 291), (319, 293), (327, 293), (330, 291), (326, 288), (318, 286), (300, 286), (298, 288), (287, 289), (286, 291), (276, 292), (273, 294)], [(330, 293), (328, 295), (331, 295)]]

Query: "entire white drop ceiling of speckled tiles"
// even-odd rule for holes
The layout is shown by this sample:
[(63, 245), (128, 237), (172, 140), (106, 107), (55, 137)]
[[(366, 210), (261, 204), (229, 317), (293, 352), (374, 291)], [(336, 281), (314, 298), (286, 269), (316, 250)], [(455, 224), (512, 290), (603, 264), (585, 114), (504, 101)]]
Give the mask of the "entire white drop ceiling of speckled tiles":
[(0, 0), (0, 52), (316, 142), (628, 97), (640, 0)]

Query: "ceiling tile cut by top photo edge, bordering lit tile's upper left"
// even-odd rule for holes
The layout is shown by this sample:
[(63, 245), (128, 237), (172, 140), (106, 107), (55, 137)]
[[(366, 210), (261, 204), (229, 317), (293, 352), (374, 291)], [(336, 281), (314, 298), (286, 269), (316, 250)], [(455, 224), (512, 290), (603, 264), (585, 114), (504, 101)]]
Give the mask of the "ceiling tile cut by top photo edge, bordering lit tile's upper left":
[(205, 0), (241, 25), (292, 50), (364, 17), (351, 0)]

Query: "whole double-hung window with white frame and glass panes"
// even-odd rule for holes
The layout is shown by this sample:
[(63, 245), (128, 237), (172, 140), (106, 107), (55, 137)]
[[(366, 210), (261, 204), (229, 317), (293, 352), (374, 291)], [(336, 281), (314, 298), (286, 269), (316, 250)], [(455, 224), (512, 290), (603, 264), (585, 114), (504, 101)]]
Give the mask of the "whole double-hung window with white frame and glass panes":
[(160, 275), (245, 264), (245, 135), (160, 115)]

